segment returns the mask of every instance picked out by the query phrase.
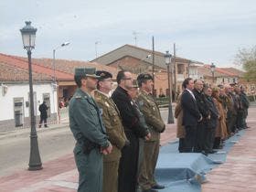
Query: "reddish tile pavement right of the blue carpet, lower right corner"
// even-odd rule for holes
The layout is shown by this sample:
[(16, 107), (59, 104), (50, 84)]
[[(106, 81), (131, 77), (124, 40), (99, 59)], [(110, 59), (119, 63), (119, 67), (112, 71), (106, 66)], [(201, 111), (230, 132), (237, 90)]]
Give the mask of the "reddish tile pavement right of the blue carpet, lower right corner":
[(202, 185), (203, 192), (256, 191), (256, 126), (255, 123), (249, 125), (251, 128), (234, 144), (225, 164), (208, 173), (208, 183)]

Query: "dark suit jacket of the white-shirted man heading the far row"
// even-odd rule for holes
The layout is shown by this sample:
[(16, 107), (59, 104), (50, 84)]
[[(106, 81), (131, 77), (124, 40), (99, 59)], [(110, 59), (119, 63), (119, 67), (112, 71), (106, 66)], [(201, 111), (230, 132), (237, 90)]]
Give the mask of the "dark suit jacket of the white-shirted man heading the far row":
[(182, 93), (181, 106), (183, 109), (182, 125), (197, 126), (197, 122), (200, 120), (201, 114), (197, 108), (197, 101), (187, 90), (184, 90)]

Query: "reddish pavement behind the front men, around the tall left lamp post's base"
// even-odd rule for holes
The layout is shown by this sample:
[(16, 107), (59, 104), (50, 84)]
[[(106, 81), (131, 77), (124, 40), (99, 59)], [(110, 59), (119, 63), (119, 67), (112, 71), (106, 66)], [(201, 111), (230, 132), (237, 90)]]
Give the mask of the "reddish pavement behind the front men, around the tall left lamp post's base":
[[(176, 125), (166, 126), (161, 145), (176, 140)], [(1, 192), (75, 192), (78, 172), (73, 154), (65, 155), (43, 165), (40, 171), (17, 171), (11, 176), (0, 177)]]

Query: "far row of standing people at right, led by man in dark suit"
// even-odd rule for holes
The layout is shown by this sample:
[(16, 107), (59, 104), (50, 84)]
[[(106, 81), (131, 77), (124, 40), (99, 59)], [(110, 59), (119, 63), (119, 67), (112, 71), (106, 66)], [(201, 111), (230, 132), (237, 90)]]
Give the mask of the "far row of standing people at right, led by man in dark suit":
[(211, 87), (202, 80), (187, 78), (183, 88), (175, 109), (180, 153), (213, 154), (227, 138), (249, 128), (250, 101), (243, 86)]

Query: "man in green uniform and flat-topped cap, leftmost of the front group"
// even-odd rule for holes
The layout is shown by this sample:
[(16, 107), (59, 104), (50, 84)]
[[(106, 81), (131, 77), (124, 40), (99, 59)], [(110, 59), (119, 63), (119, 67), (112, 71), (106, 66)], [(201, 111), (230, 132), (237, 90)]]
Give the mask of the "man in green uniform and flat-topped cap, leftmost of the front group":
[(79, 171), (78, 192), (102, 191), (102, 154), (112, 152), (101, 111), (91, 97), (97, 78), (95, 69), (75, 69), (78, 89), (69, 101), (69, 126), (77, 141), (74, 156)]

